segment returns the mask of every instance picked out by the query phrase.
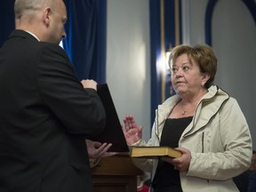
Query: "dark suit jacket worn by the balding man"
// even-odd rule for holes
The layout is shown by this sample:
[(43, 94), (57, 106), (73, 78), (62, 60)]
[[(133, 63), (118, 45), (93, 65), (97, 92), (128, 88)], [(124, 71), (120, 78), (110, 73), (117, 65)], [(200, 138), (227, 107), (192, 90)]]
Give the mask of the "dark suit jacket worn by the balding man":
[(92, 191), (84, 136), (105, 121), (58, 44), (12, 32), (0, 50), (1, 192)]

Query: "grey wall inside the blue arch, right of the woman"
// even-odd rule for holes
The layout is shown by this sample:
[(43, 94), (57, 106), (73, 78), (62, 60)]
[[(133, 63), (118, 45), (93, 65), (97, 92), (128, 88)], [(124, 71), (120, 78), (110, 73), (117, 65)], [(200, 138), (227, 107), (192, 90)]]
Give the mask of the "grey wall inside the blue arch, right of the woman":
[(212, 46), (220, 59), (216, 82), (240, 104), (256, 149), (256, 26), (241, 0), (216, 5)]

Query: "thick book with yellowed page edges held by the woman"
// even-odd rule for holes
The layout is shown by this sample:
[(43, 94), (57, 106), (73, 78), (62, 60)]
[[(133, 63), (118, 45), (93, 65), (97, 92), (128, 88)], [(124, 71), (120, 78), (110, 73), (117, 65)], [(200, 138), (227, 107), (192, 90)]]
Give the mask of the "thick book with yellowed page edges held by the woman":
[(158, 158), (159, 156), (180, 157), (179, 150), (170, 147), (132, 147), (132, 157)]

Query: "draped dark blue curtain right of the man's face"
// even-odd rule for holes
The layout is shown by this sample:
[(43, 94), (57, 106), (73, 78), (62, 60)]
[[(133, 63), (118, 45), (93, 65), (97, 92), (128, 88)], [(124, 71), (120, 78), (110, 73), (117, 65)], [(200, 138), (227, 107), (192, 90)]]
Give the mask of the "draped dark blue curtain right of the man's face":
[(82, 80), (106, 81), (106, 0), (66, 0), (67, 38), (63, 47)]

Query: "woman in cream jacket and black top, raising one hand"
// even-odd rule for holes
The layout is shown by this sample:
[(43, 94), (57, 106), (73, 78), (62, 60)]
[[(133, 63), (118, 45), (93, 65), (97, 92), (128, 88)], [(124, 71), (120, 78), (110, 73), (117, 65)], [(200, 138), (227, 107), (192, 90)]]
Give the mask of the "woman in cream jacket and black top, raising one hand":
[(232, 178), (251, 164), (252, 139), (234, 98), (212, 85), (217, 59), (206, 44), (179, 45), (170, 57), (172, 86), (177, 94), (156, 109), (148, 143), (132, 115), (124, 117), (130, 146), (170, 146), (178, 158), (133, 159), (153, 172), (155, 192), (238, 191)]

